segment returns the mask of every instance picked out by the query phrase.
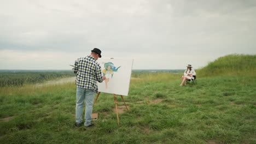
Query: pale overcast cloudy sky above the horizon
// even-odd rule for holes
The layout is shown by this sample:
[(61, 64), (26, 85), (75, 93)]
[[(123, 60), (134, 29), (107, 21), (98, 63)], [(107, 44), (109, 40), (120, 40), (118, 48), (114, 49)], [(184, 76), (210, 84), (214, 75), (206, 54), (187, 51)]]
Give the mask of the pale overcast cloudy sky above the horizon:
[(0, 69), (70, 69), (97, 47), (133, 69), (256, 53), (255, 0), (0, 0)]

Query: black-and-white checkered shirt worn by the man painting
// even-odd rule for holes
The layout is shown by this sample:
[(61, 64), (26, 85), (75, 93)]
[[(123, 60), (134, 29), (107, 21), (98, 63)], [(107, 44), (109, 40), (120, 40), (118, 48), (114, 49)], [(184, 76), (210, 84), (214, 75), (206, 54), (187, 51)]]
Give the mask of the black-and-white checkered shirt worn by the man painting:
[(92, 56), (81, 57), (75, 61), (73, 73), (77, 74), (75, 85), (98, 92), (97, 81), (102, 82), (101, 66)]

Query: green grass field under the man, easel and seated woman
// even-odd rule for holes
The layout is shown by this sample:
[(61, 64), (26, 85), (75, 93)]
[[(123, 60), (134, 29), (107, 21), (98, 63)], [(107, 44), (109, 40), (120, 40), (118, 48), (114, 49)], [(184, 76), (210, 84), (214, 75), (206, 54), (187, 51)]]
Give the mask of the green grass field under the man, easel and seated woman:
[(98, 98), (94, 127), (78, 128), (73, 83), (2, 87), (0, 143), (256, 143), (256, 76), (228, 71), (183, 87), (179, 74), (132, 78), (120, 126), (113, 94)]

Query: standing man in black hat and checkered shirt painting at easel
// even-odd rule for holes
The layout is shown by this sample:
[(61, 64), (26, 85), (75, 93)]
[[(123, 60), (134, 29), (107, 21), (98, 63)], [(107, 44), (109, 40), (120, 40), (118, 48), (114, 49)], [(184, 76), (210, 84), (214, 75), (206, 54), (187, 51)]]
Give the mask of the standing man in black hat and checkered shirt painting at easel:
[(83, 105), (85, 100), (85, 127), (94, 125), (91, 123), (92, 105), (95, 93), (98, 92), (97, 81), (106, 79), (101, 74), (101, 66), (97, 61), (101, 58), (101, 50), (94, 48), (91, 55), (78, 58), (75, 61), (73, 73), (77, 74), (75, 85), (77, 85), (77, 103), (75, 107), (75, 125), (82, 126)]

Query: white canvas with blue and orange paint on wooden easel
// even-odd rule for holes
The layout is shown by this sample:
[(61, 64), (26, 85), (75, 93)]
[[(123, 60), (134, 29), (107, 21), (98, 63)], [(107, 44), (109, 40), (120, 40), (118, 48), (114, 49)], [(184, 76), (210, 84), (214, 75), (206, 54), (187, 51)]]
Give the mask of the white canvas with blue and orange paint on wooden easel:
[[(98, 91), (127, 96), (129, 93), (132, 62), (132, 59), (98, 59), (102, 74), (106, 76), (106, 80), (102, 83), (98, 82)], [(108, 70), (105, 69), (105, 66)]]

